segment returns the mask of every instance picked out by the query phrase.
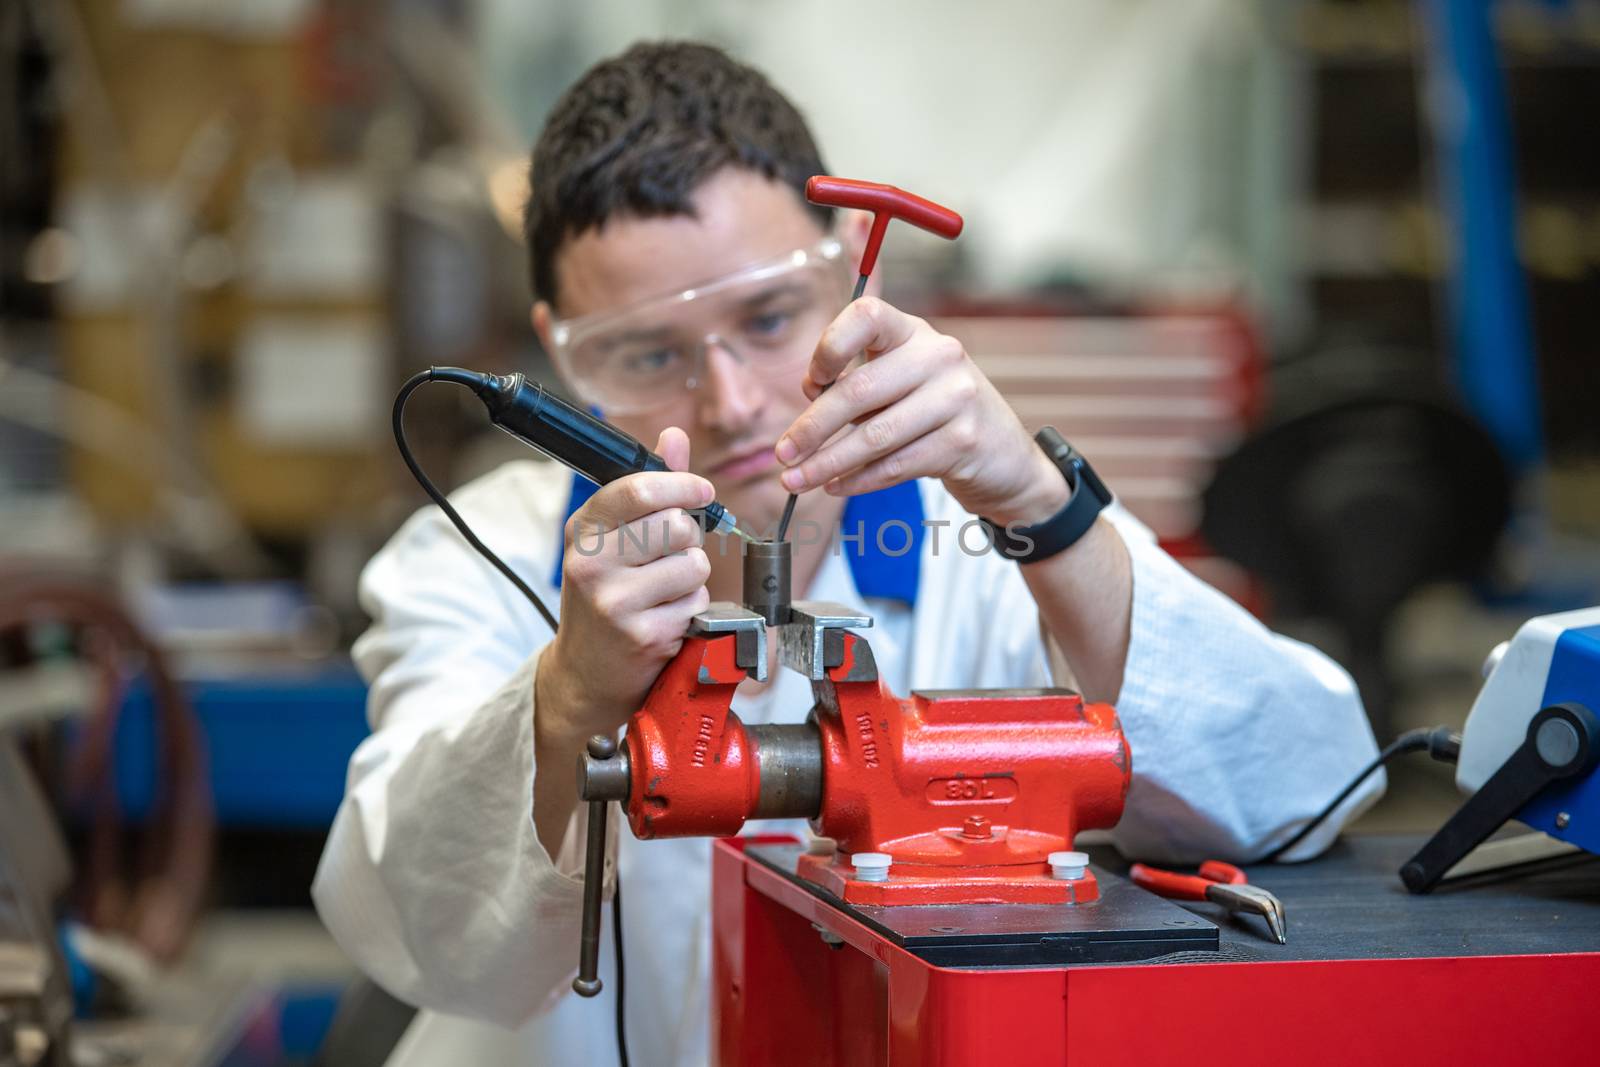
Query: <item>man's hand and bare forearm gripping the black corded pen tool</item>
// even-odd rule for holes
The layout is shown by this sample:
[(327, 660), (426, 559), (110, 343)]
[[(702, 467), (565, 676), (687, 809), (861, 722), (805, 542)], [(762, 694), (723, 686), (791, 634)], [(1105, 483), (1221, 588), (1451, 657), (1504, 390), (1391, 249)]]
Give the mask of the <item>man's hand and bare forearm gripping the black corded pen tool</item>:
[(688, 509), (715, 491), (686, 474), (683, 430), (662, 430), (656, 454), (670, 470), (618, 478), (566, 522), (562, 625), (534, 678), (534, 822), (552, 854), (578, 800), (578, 752), (638, 710), (710, 603), (710, 560)]

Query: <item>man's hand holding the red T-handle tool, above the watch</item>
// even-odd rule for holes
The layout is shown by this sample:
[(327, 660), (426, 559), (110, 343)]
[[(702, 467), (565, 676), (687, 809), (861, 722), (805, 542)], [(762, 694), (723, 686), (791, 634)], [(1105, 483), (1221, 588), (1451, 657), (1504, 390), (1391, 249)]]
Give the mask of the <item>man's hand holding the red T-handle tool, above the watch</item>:
[[(866, 362), (851, 368), (856, 357)], [(1043, 522), (1067, 502), (1066, 478), (962, 342), (882, 299), (854, 301), (829, 325), (805, 394), (811, 406), (776, 450), (790, 493), (941, 478), (962, 507), (1002, 525)]]

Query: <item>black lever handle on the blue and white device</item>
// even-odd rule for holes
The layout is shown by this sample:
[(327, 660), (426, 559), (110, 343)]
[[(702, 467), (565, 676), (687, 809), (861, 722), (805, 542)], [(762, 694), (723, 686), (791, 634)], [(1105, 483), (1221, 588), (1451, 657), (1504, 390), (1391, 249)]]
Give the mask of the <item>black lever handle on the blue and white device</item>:
[(1462, 856), (1515, 817), (1550, 782), (1587, 774), (1600, 760), (1600, 720), (1582, 704), (1552, 704), (1528, 723), (1522, 745), (1400, 869), (1411, 893), (1427, 893)]

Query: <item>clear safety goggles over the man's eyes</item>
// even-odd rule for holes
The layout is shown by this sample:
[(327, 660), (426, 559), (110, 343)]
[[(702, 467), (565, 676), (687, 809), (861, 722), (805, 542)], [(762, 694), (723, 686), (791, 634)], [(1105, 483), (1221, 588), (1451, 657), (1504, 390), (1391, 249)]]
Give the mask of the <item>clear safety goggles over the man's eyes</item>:
[(552, 355), (587, 402), (634, 414), (698, 389), (710, 346), (757, 374), (798, 376), (848, 296), (843, 248), (827, 238), (619, 312), (557, 322)]

